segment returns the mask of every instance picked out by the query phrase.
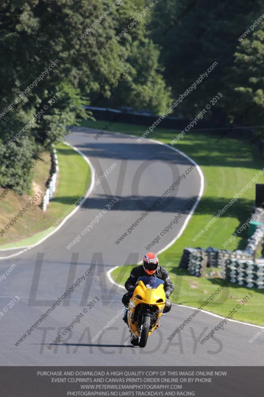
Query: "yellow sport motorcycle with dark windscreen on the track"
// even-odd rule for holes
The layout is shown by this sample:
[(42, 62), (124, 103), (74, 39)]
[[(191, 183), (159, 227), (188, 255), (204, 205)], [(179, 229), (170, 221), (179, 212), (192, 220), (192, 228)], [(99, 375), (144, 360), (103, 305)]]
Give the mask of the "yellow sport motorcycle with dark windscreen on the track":
[(128, 304), (130, 342), (145, 347), (149, 335), (159, 328), (159, 318), (165, 307), (164, 281), (157, 277), (139, 277)]

